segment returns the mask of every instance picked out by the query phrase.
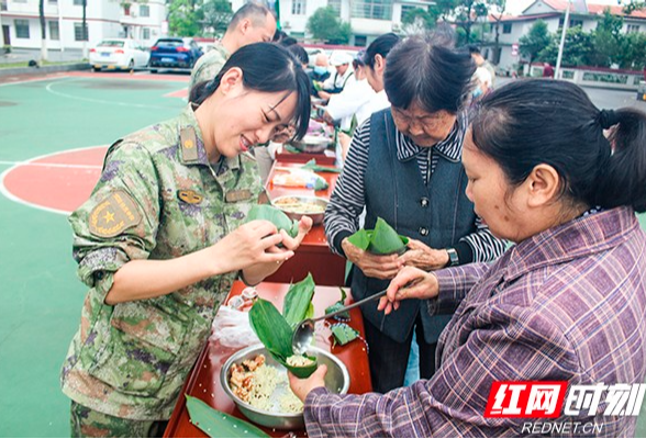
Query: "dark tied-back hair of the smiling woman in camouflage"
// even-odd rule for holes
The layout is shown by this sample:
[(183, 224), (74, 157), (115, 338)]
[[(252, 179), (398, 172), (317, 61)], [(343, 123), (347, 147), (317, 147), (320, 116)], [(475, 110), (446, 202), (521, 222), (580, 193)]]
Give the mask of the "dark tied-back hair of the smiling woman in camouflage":
[(224, 74), (234, 67), (243, 71), (243, 85), (249, 90), (297, 93), (294, 138), (302, 138), (310, 123), (310, 78), (298, 60), (278, 44), (256, 43), (241, 47), (231, 55), (213, 80), (200, 82), (193, 87), (190, 102), (197, 105), (202, 104), (218, 90)]

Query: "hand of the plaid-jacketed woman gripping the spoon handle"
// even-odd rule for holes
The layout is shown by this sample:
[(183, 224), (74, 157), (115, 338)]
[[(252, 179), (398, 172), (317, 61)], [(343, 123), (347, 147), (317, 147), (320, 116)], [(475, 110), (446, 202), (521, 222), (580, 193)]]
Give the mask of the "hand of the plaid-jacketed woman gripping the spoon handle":
[(419, 268), (404, 267), (394, 278), (385, 297), (379, 300), (377, 309), (386, 315), (399, 308), (399, 303), (406, 299), (433, 299), (439, 293), (437, 278)]

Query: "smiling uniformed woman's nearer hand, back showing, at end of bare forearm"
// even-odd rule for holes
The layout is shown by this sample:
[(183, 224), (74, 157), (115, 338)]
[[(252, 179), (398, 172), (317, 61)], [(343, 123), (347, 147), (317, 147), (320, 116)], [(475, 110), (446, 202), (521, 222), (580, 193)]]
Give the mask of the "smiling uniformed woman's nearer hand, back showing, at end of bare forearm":
[(283, 239), (285, 236), (270, 222), (252, 221), (211, 246), (211, 259), (219, 264), (220, 273), (238, 271), (259, 263), (280, 262), (293, 256), (291, 249), (277, 247)]

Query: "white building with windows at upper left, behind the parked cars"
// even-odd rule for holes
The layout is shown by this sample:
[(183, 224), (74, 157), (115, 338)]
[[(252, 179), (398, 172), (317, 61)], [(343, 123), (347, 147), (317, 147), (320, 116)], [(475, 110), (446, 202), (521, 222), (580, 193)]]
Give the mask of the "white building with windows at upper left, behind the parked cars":
[[(131, 37), (152, 46), (163, 35), (164, 0), (85, 0), (88, 45), (103, 38)], [(40, 0), (0, 0), (2, 42), (18, 48), (41, 48)], [(83, 0), (45, 0), (48, 49), (83, 48)]]

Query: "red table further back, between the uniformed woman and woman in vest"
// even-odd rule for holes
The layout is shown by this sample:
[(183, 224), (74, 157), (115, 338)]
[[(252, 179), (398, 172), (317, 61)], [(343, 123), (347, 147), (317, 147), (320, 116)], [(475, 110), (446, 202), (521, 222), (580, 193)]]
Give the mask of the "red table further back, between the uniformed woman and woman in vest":
[[(320, 196), (330, 200), (338, 173), (316, 172), (323, 177), (330, 188), (324, 191), (314, 191), (307, 188), (286, 188), (272, 184), (271, 180), (278, 172), (285, 172), (280, 168), (300, 167), (298, 164), (287, 164), (276, 160), (269, 178), (267, 179), (267, 192), (271, 200), (283, 195), (308, 195)], [(343, 285), (345, 284), (345, 259), (330, 251), (323, 225), (312, 227), (303, 243), (298, 248), (296, 256), (285, 262), (268, 282), (290, 283), (303, 280), (308, 272), (314, 277), (316, 285)]]

